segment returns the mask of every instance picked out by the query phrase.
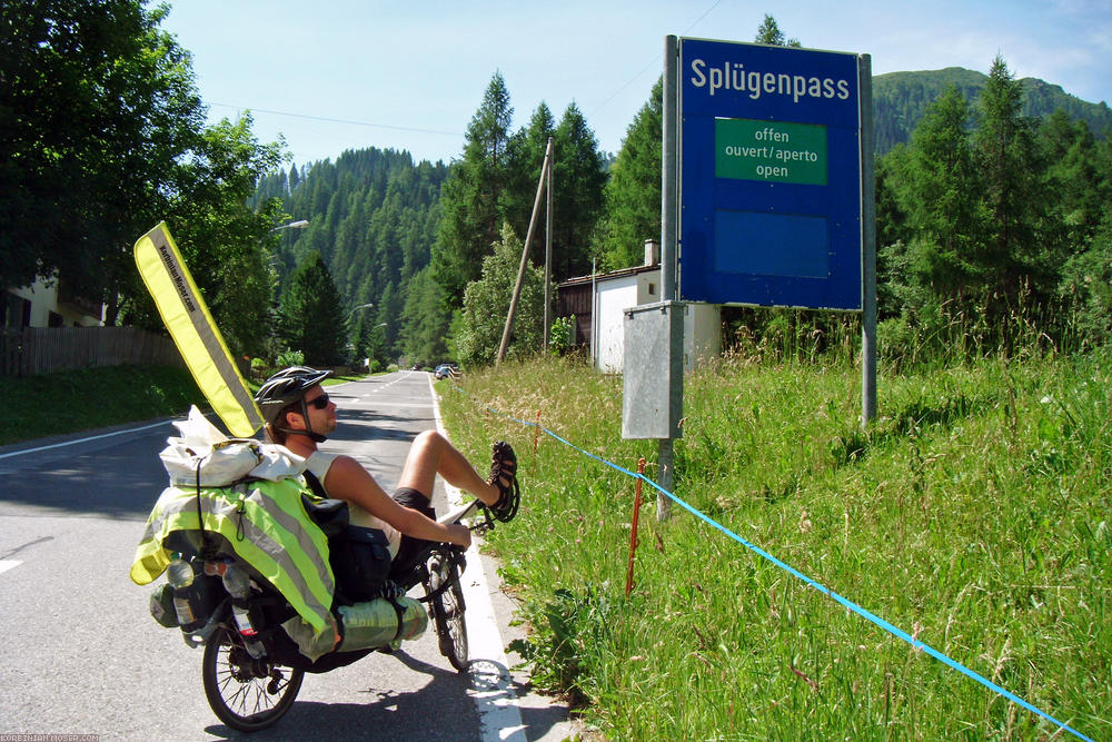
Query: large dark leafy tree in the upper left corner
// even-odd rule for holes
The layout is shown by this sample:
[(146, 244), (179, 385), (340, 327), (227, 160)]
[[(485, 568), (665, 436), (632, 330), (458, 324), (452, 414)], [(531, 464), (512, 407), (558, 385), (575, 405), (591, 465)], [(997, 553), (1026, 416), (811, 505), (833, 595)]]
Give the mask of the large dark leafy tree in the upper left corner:
[(0, 4), (0, 286), (61, 270), (118, 288), (166, 212), (205, 111), (189, 55), (139, 0)]

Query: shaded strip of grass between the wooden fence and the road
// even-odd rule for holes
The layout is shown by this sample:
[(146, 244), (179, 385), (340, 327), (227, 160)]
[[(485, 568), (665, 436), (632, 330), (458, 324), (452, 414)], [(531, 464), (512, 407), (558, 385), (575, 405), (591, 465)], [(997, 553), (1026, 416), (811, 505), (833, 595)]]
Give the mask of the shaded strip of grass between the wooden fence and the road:
[(4, 377), (0, 445), (179, 415), (203, 397), (185, 368), (111, 366)]

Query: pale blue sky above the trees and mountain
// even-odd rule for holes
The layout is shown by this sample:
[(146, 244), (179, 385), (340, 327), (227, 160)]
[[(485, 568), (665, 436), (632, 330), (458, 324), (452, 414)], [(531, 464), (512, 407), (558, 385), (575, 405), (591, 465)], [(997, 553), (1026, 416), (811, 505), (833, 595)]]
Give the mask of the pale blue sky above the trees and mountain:
[[(778, 6), (778, 7), (777, 7)], [(163, 28), (193, 55), (211, 118), (251, 110), (298, 165), (346, 149), (458, 158), (495, 71), (513, 128), (575, 102), (617, 152), (662, 69), (668, 33), (752, 41), (766, 12), (804, 47), (872, 56), (873, 73), (965, 67), (1002, 55), (1092, 102), (1112, 101), (1112, 0), (969, 1), (176, 0)]]

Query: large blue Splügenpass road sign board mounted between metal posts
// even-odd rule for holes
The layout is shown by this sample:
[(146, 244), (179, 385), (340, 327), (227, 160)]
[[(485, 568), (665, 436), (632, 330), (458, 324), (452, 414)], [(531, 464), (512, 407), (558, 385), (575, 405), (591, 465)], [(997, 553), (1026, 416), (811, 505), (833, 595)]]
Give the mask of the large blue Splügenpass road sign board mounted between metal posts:
[(862, 307), (857, 55), (679, 40), (679, 295)]

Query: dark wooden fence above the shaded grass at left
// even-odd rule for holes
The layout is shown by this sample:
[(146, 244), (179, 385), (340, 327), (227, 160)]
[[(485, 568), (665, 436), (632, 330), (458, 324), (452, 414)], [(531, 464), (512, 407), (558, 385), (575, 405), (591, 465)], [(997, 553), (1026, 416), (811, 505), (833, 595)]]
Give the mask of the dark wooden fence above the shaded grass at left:
[(185, 366), (170, 338), (138, 327), (0, 330), (0, 376), (33, 376), (121, 364)]

